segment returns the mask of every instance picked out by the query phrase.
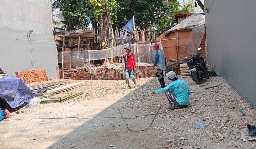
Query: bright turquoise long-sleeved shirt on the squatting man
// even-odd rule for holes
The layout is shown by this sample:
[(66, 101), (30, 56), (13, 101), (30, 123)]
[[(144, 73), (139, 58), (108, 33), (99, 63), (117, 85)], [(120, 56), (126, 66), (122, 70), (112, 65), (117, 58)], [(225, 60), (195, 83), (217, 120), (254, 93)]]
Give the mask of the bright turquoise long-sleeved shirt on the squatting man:
[(177, 101), (180, 105), (188, 105), (189, 95), (191, 93), (190, 89), (183, 80), (175, 80), (170, 83), (167, 87), (157, 89), (156, 94), (164, 93), (166, 90), (171, 90), (177, 97)]

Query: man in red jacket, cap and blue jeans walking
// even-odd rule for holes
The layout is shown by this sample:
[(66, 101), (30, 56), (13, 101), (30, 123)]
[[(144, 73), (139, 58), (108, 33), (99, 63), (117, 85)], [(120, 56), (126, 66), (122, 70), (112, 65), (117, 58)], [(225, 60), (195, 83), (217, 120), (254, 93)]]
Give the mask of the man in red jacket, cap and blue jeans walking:
[(124, 66), (126, 68), (126, 84), (128, 84), (128, 88), (131, 88), (129, 78), (131, 78), (135, 86), (137, 86), (137, 82), (134, 78), (134, 71), (136, 70), (136, 59), (135, 55), (131, 52), (129, 46), (125, 47), (124, 49), (127, 53), (124, 55)]

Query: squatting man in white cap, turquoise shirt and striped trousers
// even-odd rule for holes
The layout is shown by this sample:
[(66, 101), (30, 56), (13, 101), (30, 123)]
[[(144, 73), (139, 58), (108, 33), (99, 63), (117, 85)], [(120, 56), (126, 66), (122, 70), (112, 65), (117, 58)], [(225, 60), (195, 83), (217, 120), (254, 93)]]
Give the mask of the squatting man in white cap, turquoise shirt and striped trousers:
[(173, 71), (166, 73), (166, 76), (172, 81), (172, 83), (165, 88), (154, 90), (151, 94), (155, 95), (165, 92), (170, 108), (186, 107), (188, 105), (191, 91), (185, 81), (178, 79), (176, 73)]

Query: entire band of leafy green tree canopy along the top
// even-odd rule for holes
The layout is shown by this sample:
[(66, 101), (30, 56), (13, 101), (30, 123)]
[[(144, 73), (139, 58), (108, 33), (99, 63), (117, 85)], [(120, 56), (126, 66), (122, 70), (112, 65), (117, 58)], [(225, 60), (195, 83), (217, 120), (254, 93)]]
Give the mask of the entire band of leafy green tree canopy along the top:
[(69, 30), (84, 29), (92, 20), (100, 23), (99, 17), (105, 12), (110, 13), (114, 28), (123, 27), (135, 16), (137, 27), (160, 24), (162, 29), (169, 29), (175, 14), (194, 11), (194, 2), (182, 6), (177, 0), (55, 0), (53, 9), (62, 11)]

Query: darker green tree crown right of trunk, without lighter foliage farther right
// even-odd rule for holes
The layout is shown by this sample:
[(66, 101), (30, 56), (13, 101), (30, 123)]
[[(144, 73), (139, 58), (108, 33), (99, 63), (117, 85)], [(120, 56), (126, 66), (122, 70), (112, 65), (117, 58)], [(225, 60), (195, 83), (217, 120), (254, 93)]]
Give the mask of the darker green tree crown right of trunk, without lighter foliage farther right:
[(133, 16), (136, 26), (143, 28), (157, 24), (169, 12), (168, 0), (118, 0), (116, 27), (123, 27)]

